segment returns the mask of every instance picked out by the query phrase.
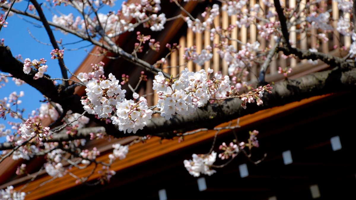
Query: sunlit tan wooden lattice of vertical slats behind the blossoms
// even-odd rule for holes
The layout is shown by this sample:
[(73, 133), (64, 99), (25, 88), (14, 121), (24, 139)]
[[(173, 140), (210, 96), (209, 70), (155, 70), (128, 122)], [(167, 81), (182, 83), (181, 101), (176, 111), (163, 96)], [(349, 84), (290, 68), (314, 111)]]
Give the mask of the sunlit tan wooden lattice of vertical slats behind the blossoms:
[[(273, 0), (270, 1), (273, 3)], [(299, 8), (297, 8), (296, 11), (305, 9), (307, 0), (301, 0), (299, 4), (297, 2), (298, 1), (296, 0), (289, 0), (289, 1), (281, 0), (281, 4), (287, 5), (287, 7), (289, 6), (291, 8), (294, 8), (295, 6), (299, 6)], [(328, 11), (331, 10), (330, 15), (333, 18), (332, 26), (334, 27), (337, 26), (337, 19), (339, 19), (341, 15), (342, 17), (344, 17), (344, 19), (345, 18), (350, 19), (349, 14), (344, 14), (341, 11), (339, 11), (339, 9), (337, 8), (337, 2), (331, 0), (324, 1), (324, 2), (326, 2), (324, 4), (326, 5), (324, 9)], [(249, 9), (249, 5), (255, 5), (256, 3), (258, 3), (261, 7), (260, 12), (265, 11), (267, 13), (268, 11), (273, 11), (275, 9), (274, 7), (266, 7), (265, 4), (263, 4), (262, 0), (260, 1), (250, 0), (249, 3), (245, 6), (245, 8)], [(310, 9), (313, 9), (313, 7), (310, 7)], [(197, 17), (201, 18), (200, 14)], [(214, 19), (214, 26), (221, 26), (223, 29), (226, 29), (229, 26), (229, 24), (234, 24), (236, 19), (237, 17), (235, 15), (228, 16), (227, 12), (222, 11), (220, 7), (220, 15)], [(201, 20), (204, 19), (201, 18)], [(312, 27), (311, 34), (309, 33), (307, 34), (305, 32), (298, 32), (298, 29), (295, 26), (292, 26), (289, 29), (289, 32), (290, 32), (290, 40), (295, 41), (295, 44), (293, 44), (293, 46), (301, 49), (315, 48), (316, 42), (318, 40), (316, 35), (318, 33), (322, 33), (321, 30), (318, 30), (317, 28), (313, 28), (313, 27)], [(232, 31), (231, 37), (232, 39), (240, 40), (242, 43), (247, 43), (247, 42), (254, 43), (255, 41), (258, 41), (260, 43), (260, 49), (263, 49), (267, 46), (273, 47), (275, 44), (274, 40), (267, 41), (261, 36), (259, 36), (257, 27), (254, 24), (251, 24), (247, 28), (245, 26), (242, 26), (241, 28), (235, 27)], [(351, 45), (351, 37), (340, 35), (336, 31), (336, 29), (333, 32), (328, 33), (328, 38), (329, 38), (329, 42), (322, 43), (318, 48), (319, 52), (330, 53), (334, 56), (341, 56), (340, 50), (334, 49), (334, 46), (337, 47), (345, 46), (346, 48), (349, 48)], [(184, 65), (186, 60), (183, 58), (185, 47), (192, 47), (193, 45), (195, 45), (197, 47), (197, 52), (200, 53), (204, 47), (206, 47), (207, 45), (213, 46), (214, 43), (215, 44), (219, 43), (218, 36), (217, 37), (215, 36), (214, 40), (210, 41), (209, 31), (204, 31), (203, 33), (194, 33), (191, 28), (188, 28), (187, 33), (179, 38), (179, 44), (182, 48), (180, 48), (178, 52), (174, 52), (171, 54), (171, 57), (168, 59), (168, 63), (163, 66), (164, 72), (176, 76), (180, 71), (182, 71), (186, 67)], [(236, 41), (230, 41), (230, 43), (235, 47), (235, 49), (237, 50), (241, 49), (242, 44), (239, 44)], [(305, 73), (315, 72), (328, 67), (326, 64), (324, 64), (321, 61), (318, 62), (318, 64), (310, 64), (308, 63), (307, 60), (300, 61), (299, 59), (296, 58), (284, 59), (281, 57), (281, 55), (282, 52), (279, 52), (278, 56), (274, 56), (271, 64), (269, 65), (266, 74), (267, 81), (278, 81), (283, 79), (283, 76), (277, 73), (278, 67), (282, 67), (282, 68), (291, 67), (293, 69), (292, 75), (295, 76), (298, 76), (298, 74), (299, 76), (301, 76)], [(178, 65), (179, 67), (174, 67)], [(198, 71), (200, 69), (207, 70), (208, 68), (212, 68), (214, 69), (214, 72), (221, 71), (223, 74), (227, 74), (227, 69), (228, 69), (227, 63), (225, 62), (224, 59), (222, 59), (219, 56), (216, 48), (213, 48), (213, 59), (211, 59), (210, 62), (205, 62), (204, 66), (194, 64), (192, 61), (190, 61), (188, 62), (187, 67), (189, 71)], [(249, 71), (249, 77), (247, 81), (251, 81), (251, 82), (256, 81), (258, 72), (260, 70), (259, 64), (256, 64), (252, 68), (249, 68), (247, 70)], [(158, 100), (157, 94), (154, 94), (153, 96), (154, 96), (153, 102), (157, 102)]]

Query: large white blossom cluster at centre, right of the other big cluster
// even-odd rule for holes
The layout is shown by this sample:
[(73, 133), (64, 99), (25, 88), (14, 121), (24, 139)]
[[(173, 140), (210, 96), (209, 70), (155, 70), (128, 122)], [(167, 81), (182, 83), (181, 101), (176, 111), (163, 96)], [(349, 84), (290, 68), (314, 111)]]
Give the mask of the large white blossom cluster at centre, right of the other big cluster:
[(162, 72), (158, 72), (153, 80), (153, 89), (159, 95), (156, 106), (160, 109), (161, 116), (168, 120), (175, 114), (188, 115), (205, 105), (212, 95), (224, 93), (230, 88), (229, 77), (223, 77), (219, 73), (208, 80), (212, 72), (212, 69), (208, 69), (208, 74), (203, 69), (189, 72), (185, 68), (177, 79), (167, 79)]

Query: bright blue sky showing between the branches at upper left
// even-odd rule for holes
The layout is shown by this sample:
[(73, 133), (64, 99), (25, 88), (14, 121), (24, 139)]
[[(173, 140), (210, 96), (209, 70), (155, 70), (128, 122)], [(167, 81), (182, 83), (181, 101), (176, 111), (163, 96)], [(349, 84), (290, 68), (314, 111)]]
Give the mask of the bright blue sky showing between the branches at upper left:
[[(42, 8), (46, 14), (47, 20), (52, 21), (52, 13), (49, 12), (44, 6), (44, 4), (48, 4), (48, 2), (38, 2), (43, 2)], [(99, 12), (105, 13), (105, 11), (107, 12), (109, 10), (116, 12), (120, 9), (121, 2), (121, 0), (116, 1), (115, 6), (107, 6), (107, 8), (103, 8)], [(20, 3), (14, 4), (15, 9), (22, 11), (25, 11), (26, 6), (27, 1), (22, 1)], [(69, 12), (74, 11), (70, 8), (70, 6), (60, 6), (57, 9), (63, 14), (68, 14)], [(77, 16), (78, 12), (73, 12), (73, 14), (74, 16)], [(32, 20), (28, 17), (19, 16), (16, 14), (14, 16), (8, 17), (6, 21), (9, 24), (7, 25), (7, 27), (2, 27), (0, 31), (0, 39), (5, 39), (5, 46), (10, 47), (12, 55), (15, 56), (21, 54), (23, 59), (30, 58), (31, 60), (45, 58), (47, 60), (46, 64), (48, 65), (47, 74), (51, 75), (52, 78), (61, 78), (58, 61), (51, 59), (50, 52), (52, 51), (53, 47), (51, 45), (46, 45), (51, 44), (49, 42), (49, 37), (43, 27), (38, 27), (38, 25), (42, 25), (42, 23), (36, 20)], [(37, 25), (29, 23), (28, 21), (35, 22)], [(31, 32), (31, 35), (33, 37), (30, 35), (29, 31)], [(57, 41), (62, 38), (62, 44), (80, 41), (80, 38), (76, 36), (71, 36), (69, 34), (63, 35), (59, 31), (54, 31), (54, 35)], [(40, 42), (46, 44), (42, 44), (36, 40), (39, 40)], [(84, 47), (75, 51), (64, 51), (64, 63), (72, 72), (74, 72), (75, 69), (79, 67), (80, 63), (83, 62), (84, 58), (88, 55), (87, 51), (89, 52), (93, 48), (93, 46), (85, 47), (88, 44), (88, 42), (80, 42), (74, 45), (65, 46), (68, 49)], [(70, 76), (69, 73), (68, 76)], [(22, 103), (19, 106), (20, 108), (26, 109), (24, 115), (25, 117), (29, 113), (31, 113), (32, 110), (36, 110), (37, 108), (39, 108), (41, 105), (40, 100), (44, 99), (42, 94), (38, 92), (35, 88), (32, 88), (27, 84), (22, 86), (16, 86), (15, 83), (11, 81), (11, 79), (9, 79), (9, 83), (6, 83), (4, 87), (0, 88), (0, 98), (3, 99), (4, 97), (9, 96), (12, 91), (16, 91), (17, 94), (19, 94), (20, 91), (25, 92), (25, 96), (21, 98)], [(7, 120), (9, 119), (11, 118), (9, 117)], [(0, 119), (0, 124), (1, 123), (4, 123), (5, 125), (7, 124), (7, 122), (3, 119)], [(0, 138), (0, 142), (2, 141), (4, 141), (4, 138)]]

